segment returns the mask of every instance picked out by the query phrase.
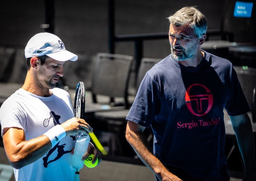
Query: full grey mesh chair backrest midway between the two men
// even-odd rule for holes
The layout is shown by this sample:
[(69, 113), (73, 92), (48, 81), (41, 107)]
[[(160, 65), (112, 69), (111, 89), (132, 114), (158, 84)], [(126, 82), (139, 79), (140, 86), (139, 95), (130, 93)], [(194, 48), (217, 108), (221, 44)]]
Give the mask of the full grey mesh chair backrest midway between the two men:
[(123, 97), (126, 102), (132, 62), (133, 57), (129, 55), (98, 53), (92, 74), (92, 94)]

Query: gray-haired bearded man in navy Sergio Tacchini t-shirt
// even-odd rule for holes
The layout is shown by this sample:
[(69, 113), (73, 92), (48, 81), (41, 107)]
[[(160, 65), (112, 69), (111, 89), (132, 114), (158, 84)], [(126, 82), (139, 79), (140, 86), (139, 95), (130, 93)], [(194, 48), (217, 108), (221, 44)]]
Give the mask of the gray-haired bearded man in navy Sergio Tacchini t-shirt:
[[(150, 69), (127, 116), (126, 139), (156, 180), (228, 181), (225, 108), (244, 159), (245, 180), (256, 180), (252, 125), (232, 64), (201, 49), (207, 21), (195, 7), (170, 16), (171, 54)], [(143, 135), (154, 133), (153, 150)]]

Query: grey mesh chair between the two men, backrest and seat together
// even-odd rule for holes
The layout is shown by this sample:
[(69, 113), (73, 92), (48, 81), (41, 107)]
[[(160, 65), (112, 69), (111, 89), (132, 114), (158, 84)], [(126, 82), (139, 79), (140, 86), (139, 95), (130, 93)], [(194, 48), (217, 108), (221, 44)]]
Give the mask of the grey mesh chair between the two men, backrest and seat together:
[[(92, 103), (85, 101), (85, 116), (94, 112), (129, 107), (127, 89), (132, 62), (133, 57), (129, 55), (97, 54), (92, 73)], [(108, 97), (109, 101), (97, 99), (98, 96)], [(122, 101), (117, 103), (116, 98)]]

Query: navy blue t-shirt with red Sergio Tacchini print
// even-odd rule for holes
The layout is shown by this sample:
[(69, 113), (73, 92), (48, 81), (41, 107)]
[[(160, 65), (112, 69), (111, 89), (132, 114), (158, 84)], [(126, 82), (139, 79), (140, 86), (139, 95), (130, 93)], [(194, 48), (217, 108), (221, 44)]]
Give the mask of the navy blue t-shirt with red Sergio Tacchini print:
[(155, 156), (181, 179), (229, 180), (223, 108), (250, 110), (232, 64), (204, 51), (196, 68), (169, 55), (150, 69), (126, 119), (152, 127)]

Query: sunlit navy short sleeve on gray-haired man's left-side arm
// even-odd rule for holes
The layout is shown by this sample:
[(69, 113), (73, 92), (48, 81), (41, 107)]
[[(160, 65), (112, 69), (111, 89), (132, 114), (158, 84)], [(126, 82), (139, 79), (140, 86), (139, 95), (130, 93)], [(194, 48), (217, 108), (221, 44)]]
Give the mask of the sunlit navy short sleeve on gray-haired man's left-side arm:
[(157, 110), (157, 90), (156, 83), (146, 73), (126, 119), (141, 126), (150, 127)]

